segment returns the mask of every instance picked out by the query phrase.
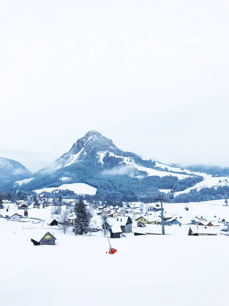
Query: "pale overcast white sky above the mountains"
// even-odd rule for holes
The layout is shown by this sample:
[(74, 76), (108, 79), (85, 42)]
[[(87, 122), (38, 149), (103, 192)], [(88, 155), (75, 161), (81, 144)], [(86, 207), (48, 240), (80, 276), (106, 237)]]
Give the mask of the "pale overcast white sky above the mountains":
[(89, 130), (229, 166), (229, 2), (2, 0), (0, 156), (31, 171)]

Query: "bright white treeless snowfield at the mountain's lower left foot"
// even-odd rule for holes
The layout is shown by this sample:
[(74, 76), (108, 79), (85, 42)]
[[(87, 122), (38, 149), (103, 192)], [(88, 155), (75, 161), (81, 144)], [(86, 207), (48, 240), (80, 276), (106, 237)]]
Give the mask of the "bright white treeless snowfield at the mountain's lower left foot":
[(48, 187), (48, 188), (42, 188), (42, 189), (36, 189), (33, 190), (36, 193), (42, 193), (42, 192), (52, 192), (54, 190), (71, 190), (74, 191), (76, 194), (89, 194), (89, 195), (94, 195), (96, 194), (97, 188), (92, 187), (88, 184), (84, 183), (72, 183), (72, 184), (63, 184), (59, 187)]

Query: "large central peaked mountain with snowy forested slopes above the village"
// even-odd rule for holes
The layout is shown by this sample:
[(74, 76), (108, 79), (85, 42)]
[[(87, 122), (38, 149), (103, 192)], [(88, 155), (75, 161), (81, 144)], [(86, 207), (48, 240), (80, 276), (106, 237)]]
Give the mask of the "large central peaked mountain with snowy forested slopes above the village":
[[(144, 202), (155, 200), (159, 192), (167, 194), (169, 201), (176, 198), (181, 202), (229, 196), (229, 177), (213, 176), (143, 160), (133, 152), (119, 149), (97, 131), (89, 131), (48, 167), (29, 179), (15, 182), (14, 189), (39, 193), (39, 190), (53, 192), (60, 187), (65, 195), (67, 189), (79, 194), (88, 191), (96, 199)], [(77, 185), (75, 189), (73, 184), (85, 184), (87, 188)], [(208, 196), (201, 194), (206, 187), (210, 189), (206, 191)]]

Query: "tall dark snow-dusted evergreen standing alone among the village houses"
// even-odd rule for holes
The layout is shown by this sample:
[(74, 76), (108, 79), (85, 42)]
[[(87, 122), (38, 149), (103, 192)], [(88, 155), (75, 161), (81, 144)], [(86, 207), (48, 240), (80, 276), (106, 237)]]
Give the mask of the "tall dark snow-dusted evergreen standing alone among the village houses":
[(74, 220), (74, 232), (75, 235), (84, 235), (89, 232), (90, 217), (83, 201), (83, 197), (80, 197), (79, 201), (75, 203), (75, 220)]

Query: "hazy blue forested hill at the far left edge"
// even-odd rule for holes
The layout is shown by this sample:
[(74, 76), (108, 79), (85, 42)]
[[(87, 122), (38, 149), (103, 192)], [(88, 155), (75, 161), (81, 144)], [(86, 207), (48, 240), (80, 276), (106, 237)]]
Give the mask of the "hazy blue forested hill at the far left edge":
[(32, 173), (19, 162), (0, 157), (0, 187), (30, 177)]

